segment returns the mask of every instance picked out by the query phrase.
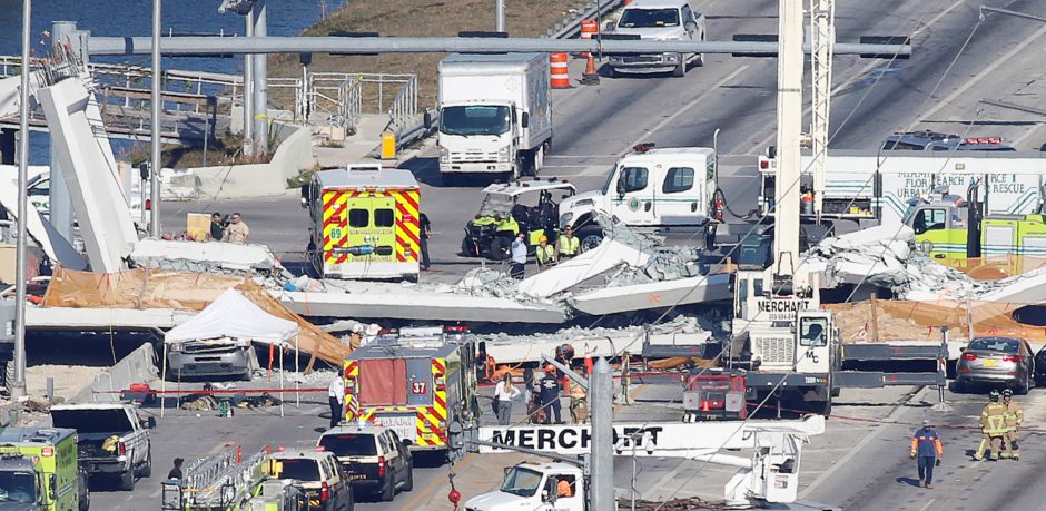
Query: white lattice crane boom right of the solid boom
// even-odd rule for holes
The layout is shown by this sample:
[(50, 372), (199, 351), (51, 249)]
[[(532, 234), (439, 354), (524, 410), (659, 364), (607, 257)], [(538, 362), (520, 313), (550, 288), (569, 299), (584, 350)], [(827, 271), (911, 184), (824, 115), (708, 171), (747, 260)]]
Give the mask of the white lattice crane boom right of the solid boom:
[(835, 0), (810, 0), (810, 77), (812, 104), (810, 147), (813, 150), (813, 213), (821, 222), (825, 170), (828, 161), (828, 124), (831, 111), (831, 59), (836, 42)]

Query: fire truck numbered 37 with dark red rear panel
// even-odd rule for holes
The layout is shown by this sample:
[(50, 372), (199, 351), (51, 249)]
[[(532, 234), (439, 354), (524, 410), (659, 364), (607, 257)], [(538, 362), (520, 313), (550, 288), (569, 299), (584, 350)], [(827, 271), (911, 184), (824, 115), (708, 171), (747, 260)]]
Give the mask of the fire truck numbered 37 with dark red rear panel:
[(345, 361), (345, 417), (454, 461), (478, 426), (476, 343), (465, 327), (382, 331)]

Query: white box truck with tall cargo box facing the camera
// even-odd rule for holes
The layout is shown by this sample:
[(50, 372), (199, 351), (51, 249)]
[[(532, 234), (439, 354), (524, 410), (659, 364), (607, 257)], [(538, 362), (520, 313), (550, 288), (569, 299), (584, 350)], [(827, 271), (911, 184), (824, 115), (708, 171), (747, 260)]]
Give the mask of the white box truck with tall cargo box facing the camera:
[(454, 53), (438, 73), (444, 183), (463, 174), (536, 176), (552, 146), (549, 56)]

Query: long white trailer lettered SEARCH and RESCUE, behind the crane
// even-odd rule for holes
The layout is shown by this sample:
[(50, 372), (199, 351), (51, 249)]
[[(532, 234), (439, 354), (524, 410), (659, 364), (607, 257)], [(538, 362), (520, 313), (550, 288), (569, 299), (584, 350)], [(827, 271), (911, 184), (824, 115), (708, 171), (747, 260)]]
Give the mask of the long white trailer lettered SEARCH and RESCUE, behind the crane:
[[(800, 189), (812, 190), (812, 157), (802, 156)], [(759, 210), (773, 215), (777, 161), (759, 157)], [(852, 219), (864, 225), (899, 224), (912, 198), (935, 191), (966, 196), (974, 179), (981, 183), (985, 214), (1028, 215), (1043, 207), (1046, 157), (1039, 153), (831, 151), (825, 171), (821, 217)], [(812, 197), (809, 200), (812, 206)], [(812, 216), (803, 208), (802, 216)]]

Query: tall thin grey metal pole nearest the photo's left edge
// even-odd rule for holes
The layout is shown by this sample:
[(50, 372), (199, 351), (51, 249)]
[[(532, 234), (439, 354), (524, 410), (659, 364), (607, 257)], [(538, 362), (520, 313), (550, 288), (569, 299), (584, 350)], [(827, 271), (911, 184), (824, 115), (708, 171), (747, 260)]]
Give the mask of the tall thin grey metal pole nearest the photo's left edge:
[(26, 395), (26, 271), (29, 266), (26, 224), (29, 217), (29, 31), (32, 0), (22, 0), (22, 79), (18, 105), (18, 240), (14, 248), (14, 381), (11, 397)]

